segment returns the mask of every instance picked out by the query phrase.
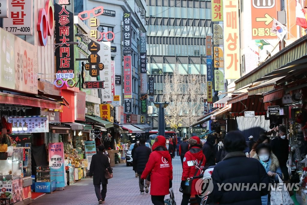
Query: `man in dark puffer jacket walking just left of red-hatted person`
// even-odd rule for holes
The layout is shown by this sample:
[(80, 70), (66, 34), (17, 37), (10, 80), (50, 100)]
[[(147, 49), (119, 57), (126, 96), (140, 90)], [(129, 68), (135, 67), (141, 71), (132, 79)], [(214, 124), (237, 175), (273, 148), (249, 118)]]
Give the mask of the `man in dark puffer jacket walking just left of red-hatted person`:
[(134, 170), (136, 170), (136, 172), (138, 173), (138, 184), (140, 187), (141, 194), (144, 194), (144, 188), (146, 193), (148, 193), (148, 187), (150, 184), (150, 182), (146, 179), (144, 186), (144, 180), (141, 178), (142, 173), (148, 162), (149, 155), (151, 153), (151, 149), (149, 147), (146, 147), (145, 142), (146, 142), (145, 139), (141, 137), (140, 146), (135, 149), (133, 156), (133, 166)]

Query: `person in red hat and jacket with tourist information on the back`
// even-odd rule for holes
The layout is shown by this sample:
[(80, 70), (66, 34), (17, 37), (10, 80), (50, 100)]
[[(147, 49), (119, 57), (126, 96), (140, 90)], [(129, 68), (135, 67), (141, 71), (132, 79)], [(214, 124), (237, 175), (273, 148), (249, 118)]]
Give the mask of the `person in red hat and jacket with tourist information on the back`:
[(154, 205), (164, 205), (164, 197), (169, 194), (172, 187), (173, 166), (169, 151), (165, 146), (164, 136), (157, 136), (153, 143), (153, 152), (142, 173), (141, 178), (146, 179), (150, 175), (150, 195)]

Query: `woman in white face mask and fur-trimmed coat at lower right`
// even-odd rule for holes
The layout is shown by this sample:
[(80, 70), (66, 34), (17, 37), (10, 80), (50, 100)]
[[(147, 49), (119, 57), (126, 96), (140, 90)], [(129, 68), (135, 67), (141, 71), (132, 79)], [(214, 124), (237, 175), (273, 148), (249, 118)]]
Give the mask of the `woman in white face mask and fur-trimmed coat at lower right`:
[[(279, 179), (282, 178), (282, 170), (280, 169), (277, 157), (271, 152), (271, 146), (266, 143), (261, 143), (256, 147), (255, 159), (259, 160), (260, 163), (266, 170), (266, 173), (270, 177), (271, 183), (278, 183)], [(261, 196), (262, 205), (270, 204), (270, 196)]]

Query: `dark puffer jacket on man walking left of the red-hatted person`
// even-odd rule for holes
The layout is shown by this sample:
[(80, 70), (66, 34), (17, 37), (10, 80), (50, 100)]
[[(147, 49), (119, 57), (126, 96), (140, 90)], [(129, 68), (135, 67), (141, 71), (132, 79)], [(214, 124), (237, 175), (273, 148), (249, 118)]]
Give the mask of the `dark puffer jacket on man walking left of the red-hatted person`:
[(144, 171), (150, 153), (151, 149), (142, 144), (134, 150), (133, 169), (138, 172), (138, 174), (142, 174)]

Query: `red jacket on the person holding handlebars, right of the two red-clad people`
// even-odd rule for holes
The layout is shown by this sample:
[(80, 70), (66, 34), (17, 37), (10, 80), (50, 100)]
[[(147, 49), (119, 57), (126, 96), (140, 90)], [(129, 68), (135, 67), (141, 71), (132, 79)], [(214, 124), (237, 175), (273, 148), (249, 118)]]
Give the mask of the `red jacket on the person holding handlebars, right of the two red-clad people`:
[[(188, 177), (194, 176), (195, 172), (197, 172), (196, 176), (200, 175), (200, 170), (196, 168), (195, 166), (188, 166), (188, 161), (191, 160), (196, 160), (197, 161), (197, 166), (201, 169), (205, 167), (206, 164), (206, 157), (203, 154), (203, 150), (199, 147), (191, 147), (191, 149), (185, 153), (185, 158), (183, 158), (183, 172), (182, 172), (182, 178), (181, 180), (187, 180)], [(200, 161), (202, 161), (201, 165)], [(191, 187), (191, 194), (198, 194), (195, 188), (197, 179), (192, 180), (192, 187)]]

